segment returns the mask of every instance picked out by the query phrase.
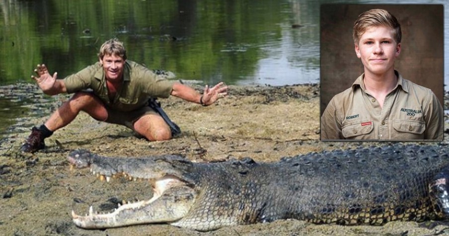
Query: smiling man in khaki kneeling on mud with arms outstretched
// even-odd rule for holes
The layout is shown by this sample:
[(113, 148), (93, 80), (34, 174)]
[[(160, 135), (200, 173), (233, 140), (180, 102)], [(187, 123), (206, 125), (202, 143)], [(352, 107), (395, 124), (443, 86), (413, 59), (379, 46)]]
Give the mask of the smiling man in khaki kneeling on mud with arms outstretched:
[[(98, 54), (99, 62), (65, 79), (57, 79), (45, 65), (37, 65), (34, 72), (45, 94), (75, 93), (40, 127), (33, 127), (22, 145), (22, 152), (36, 152), (45, 148), (44, 139), (68, 125), (84, 111), (96, 120), (125, 125), (150, 141), (169, 140), (172, 132), (166, 121), (149, 106), (151, 97), (173, 95), (186, 101), (208, 106), (227, 95), (223, 82), (203, 94), (195, 89), (157, 76), (146, 67), (127, 60), (123, 43), (117, 39), (106, 41)], [(91, 91), (86, 91), (90, 89)]]

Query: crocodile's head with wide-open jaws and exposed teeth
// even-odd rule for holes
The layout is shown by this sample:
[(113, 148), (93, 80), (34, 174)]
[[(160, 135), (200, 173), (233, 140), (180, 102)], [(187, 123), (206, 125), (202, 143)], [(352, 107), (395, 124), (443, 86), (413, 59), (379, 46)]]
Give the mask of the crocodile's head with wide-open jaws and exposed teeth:
[(111, 213), (96, 213), (92, 206), (85, 216), (72, 211), (73, 222), (80, 228), (104, 229), (160, 222), (176, 224), (197, 199), (194, 181), (184, 176), (191, 162), (181, 156), (108, 158), (86, 150), (75, 150), (67, 158), (73, 167), (90, 167), (90, 171), (101, 180), (109, 182), (116, 177), (144, 179), (153, 188), (150, 200), (119, 205)]

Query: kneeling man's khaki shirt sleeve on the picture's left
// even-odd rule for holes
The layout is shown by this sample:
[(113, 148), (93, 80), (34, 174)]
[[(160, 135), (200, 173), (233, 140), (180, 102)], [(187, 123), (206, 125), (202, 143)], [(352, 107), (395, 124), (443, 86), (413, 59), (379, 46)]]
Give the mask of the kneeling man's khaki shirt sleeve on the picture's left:
[(87, 89), (91, 85), (91, 80), (95, 77), (95, 65), (88, 66), (81, 71), (64, 78), (67, 93), (74, 93), (82, 89)]

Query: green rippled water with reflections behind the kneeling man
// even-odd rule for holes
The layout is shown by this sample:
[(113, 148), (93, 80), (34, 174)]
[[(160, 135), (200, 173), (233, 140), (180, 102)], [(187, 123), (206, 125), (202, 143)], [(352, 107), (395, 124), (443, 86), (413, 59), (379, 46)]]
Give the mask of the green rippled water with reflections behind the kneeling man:
[[(319, 76), (316, 1), (1, 0), (0, 84), (37, 63), (60, 77), (95, 62), (111, 37), (130, 60), (178, 78), (293, 84)], [(301, 25), (302, 27), (292, 27)]]

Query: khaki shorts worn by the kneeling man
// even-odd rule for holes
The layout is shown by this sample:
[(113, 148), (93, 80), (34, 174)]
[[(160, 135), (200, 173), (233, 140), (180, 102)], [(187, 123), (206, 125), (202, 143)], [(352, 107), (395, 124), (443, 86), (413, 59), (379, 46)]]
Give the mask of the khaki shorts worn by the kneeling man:
[(108, 106), (105, 106), (105, 108), (108, 111), (108, 118), (104, 122), (124, 125), (132, 130), (134, 130), (134, 122), (139, 120), (142, 116), (148, 114), (159, 115), (149, 106), (144, 106), (134, 111), (117, 111)]

